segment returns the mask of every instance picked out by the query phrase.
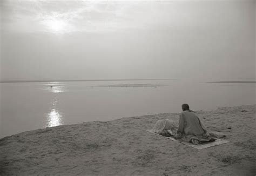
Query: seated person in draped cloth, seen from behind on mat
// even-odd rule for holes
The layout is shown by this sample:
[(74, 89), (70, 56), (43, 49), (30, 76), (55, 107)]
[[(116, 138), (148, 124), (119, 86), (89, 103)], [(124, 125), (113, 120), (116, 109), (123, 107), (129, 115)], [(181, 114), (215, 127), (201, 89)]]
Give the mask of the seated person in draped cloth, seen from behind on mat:
[(188, 104), (183, 104), (182, 110), (176, 139), (183, 139), (196, 145), (215, 140), (208, 137), (205, 127)]

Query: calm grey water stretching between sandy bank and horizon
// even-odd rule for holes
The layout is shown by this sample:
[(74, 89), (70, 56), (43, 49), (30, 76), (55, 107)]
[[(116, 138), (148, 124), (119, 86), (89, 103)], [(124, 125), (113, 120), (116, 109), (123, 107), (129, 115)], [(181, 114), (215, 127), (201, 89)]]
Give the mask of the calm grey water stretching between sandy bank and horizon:
[(83, 121), (180, 112), (183, 103), (196, 111), (255, 104), (255, 85), (180, 80), (0, 83), (0, 138)]

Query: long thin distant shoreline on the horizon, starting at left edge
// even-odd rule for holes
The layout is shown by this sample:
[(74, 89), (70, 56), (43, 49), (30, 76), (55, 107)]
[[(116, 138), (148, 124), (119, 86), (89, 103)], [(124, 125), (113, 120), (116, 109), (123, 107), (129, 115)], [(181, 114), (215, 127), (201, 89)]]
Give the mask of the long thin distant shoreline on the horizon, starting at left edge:
[(84, 79), (84, 80), (18, 80), (6, 81), (0, 83), (45, 83), (45, 82), (104, 82), (104, 81), (122, 81), (122, 80), (177, 80), (177, 79)]

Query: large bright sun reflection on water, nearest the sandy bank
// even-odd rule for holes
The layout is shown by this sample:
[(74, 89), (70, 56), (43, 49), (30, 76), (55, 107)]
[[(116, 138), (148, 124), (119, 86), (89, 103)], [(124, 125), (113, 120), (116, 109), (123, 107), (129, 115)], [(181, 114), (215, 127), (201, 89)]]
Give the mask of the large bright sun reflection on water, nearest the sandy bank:
[(56, 109), (57, 100), (53, 101), (52, 109), (47, 113), (47, 124), (46, 127), (62, 125), (62, 114)]

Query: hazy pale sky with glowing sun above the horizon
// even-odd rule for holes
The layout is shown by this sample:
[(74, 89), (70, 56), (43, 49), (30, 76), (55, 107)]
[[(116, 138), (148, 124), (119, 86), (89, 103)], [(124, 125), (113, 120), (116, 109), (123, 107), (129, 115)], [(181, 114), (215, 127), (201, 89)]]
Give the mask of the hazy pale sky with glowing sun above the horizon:
[(255, 79), (253, 0), (0, 6), (2, 81)]

